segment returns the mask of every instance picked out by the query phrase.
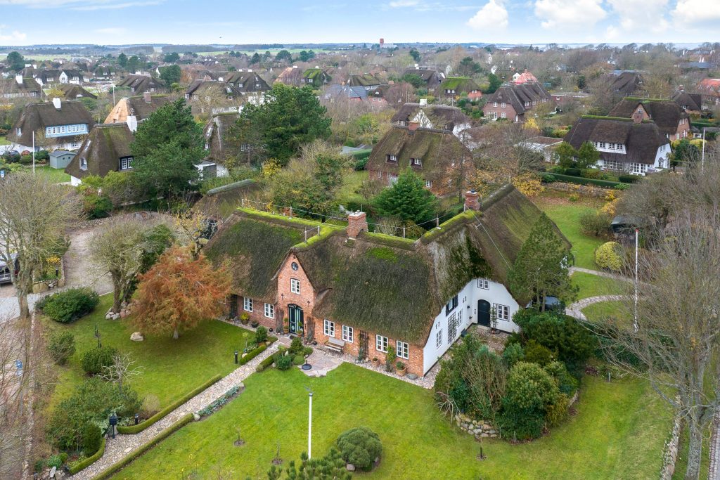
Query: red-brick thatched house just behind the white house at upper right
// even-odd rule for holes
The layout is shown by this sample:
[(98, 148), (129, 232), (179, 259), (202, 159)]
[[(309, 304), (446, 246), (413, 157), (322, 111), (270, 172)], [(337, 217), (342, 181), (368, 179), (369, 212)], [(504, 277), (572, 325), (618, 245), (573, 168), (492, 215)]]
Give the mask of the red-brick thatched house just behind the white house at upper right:
[(626, 97), (608, 113), (608, 117), (631, 118), (633, 122), (652, 120), (670, 142), (690, 133), (690, 115), (674, 100)]

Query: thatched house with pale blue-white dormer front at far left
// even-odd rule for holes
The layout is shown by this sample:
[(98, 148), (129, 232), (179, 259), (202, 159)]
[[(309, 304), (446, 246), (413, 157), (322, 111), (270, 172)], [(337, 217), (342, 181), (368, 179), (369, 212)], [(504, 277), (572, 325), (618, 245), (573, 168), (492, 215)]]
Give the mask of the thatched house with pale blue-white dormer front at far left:
[[(77, 150), (82, 139), (95, 124), (90, 112), (80, 101), (53, 101), (27, 104), (7, 135), (17, 150), (32, 151), (33, 133), (35, 150)], [(43, 143), (44, 145), (40, 145)]]

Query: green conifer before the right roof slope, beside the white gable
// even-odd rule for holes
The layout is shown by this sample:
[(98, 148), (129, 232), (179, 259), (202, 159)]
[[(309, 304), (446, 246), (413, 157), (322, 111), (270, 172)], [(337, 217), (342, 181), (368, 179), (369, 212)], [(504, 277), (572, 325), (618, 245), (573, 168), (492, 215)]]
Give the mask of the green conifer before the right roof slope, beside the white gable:
[(575, 298), (577, 288), (568, 275), (569, 252), (555, 232), (546, 214), (541, 214), (523, 243), (510, 270), (510, 291), (521, 298), (539, 302), (545, 309), (545, 298), (557, 296), (564, 301)]

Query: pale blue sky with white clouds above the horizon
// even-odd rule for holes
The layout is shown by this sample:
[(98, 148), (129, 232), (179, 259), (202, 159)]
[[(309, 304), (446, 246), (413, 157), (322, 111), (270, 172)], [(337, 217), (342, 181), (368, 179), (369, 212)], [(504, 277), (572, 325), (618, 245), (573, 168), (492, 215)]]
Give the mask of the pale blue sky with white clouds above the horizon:
[(0, 0), (0, 45), (720, 41), (720, 0)]

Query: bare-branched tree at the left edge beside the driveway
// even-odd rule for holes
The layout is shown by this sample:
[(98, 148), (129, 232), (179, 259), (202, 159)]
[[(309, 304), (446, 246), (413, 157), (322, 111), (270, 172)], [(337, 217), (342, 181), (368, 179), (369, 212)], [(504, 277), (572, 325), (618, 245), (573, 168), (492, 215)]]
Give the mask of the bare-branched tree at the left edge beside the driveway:
[(65, 230), (78, 217), (80, 204), (73, 191), (46, 176), (14, 173), (0, 182), (0, 260), (10, 268), (17, 291), (20, 317), (30, 317), (27, 294), (35, 269), (54, 255)]

